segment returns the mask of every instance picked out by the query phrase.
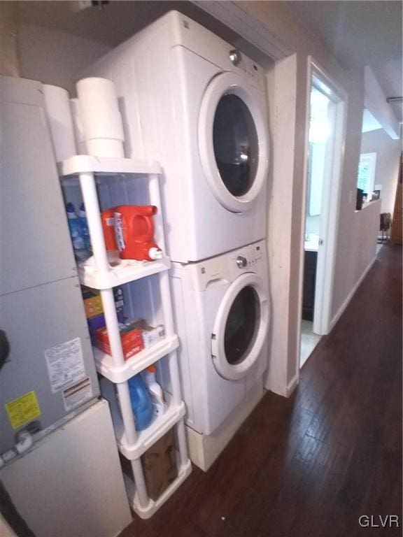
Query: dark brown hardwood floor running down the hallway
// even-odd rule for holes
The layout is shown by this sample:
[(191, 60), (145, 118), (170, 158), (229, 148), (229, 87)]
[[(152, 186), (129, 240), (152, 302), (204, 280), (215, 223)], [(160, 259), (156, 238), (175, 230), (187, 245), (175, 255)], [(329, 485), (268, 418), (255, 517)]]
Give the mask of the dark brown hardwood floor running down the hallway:
[[(360, 527), (361, 515), (379, 527)], [(399, 515), (400, 528), (379, 515)], [(210, 471), (194, 467), (121, 536), (389, 537), (401, 526), (402, 248), (387, 245), (292, 397), (268, 393)]]

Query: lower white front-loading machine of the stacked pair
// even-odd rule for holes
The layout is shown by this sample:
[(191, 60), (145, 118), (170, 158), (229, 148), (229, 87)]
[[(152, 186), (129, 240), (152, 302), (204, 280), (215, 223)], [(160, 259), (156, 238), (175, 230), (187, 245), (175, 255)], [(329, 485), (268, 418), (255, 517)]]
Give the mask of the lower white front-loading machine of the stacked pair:
[(187, 424), (211, 434), (267, 368), (264, 241), (171, 269)]

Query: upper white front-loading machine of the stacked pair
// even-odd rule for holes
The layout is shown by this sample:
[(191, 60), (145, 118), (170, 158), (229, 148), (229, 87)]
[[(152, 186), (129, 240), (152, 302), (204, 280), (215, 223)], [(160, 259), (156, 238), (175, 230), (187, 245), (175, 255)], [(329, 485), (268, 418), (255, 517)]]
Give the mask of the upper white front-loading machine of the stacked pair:
[(167, 249), (195, 262), (266, 236), (264, 72), (177, 11), (96, 62), (116, 85), (125, 155), (159, 159)]

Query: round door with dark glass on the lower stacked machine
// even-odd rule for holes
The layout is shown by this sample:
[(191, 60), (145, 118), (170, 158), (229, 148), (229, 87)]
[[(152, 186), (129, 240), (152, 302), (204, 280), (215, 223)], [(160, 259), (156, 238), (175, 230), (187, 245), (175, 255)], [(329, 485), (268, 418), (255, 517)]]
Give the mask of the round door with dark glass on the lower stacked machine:
[(227, 380), (244, 377), (259, 357), (269, 327), (269, 302), (263, 282), (244, 273), (229, 286), (211, 338), (211, 355), (218, 374)]

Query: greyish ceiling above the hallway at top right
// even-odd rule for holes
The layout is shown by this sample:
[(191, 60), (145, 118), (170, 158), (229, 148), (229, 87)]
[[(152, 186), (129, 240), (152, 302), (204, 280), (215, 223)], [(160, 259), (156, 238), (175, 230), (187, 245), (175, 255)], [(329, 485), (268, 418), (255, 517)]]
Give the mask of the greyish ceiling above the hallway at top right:
[[(285, 1), (344, 69), (369, 65), (386, 97), (402, 96), (402, 2)], [(402, 104), (391, 105), (402, 122)]]

